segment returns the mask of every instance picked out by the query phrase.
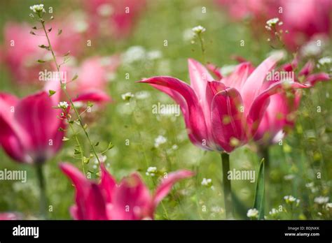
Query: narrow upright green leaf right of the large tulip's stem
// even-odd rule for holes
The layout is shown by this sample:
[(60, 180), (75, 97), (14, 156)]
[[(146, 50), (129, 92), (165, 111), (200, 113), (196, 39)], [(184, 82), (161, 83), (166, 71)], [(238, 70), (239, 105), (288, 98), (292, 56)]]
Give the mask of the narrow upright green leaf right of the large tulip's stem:
[(264, 189), (264, 158), (261, 160), (258, 169), (258, 177), (256, 183), (254, 206), (258, 210), (258, 219), (264, 219), (265, 207), (265, 189)]

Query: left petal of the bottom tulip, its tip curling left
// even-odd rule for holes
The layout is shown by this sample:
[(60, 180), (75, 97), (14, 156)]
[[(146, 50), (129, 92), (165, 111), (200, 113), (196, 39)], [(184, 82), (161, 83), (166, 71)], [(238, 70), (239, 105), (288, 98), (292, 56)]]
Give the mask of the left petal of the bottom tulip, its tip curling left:
[(76, 189), (76, 206), (71, 213), (78, 220), (106, 220), (106, 203), (99, 187), (90, 182), (76, 167), (69, 163), (61, 163), (64, 172)]

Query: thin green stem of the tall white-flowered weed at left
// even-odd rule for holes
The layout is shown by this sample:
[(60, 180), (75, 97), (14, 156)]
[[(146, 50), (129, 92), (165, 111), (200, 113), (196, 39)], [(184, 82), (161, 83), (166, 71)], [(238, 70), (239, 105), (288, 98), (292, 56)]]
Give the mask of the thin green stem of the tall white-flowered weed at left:
[[(53, 47), (52, 47), (52, 45), (50, 44), (50, 38), (48, 38), (48, 32), (46, 31), (46, 27), (45, 27), (44, 22), (41, 22), (41, 25), (42, 25), (42, 27), (43, 27), (43, 31), (45, 32), (46, 38), (47, 38), (47, 40), (48, 40), (48, 47), (49, 47), (50, 52), (52, 53), (53, 61), (55, 62), (55, 66), (57, 67), (57, 72), (60, 73), (60, 66), (57, 64), (57, 58), (55, 57), (55, 54), (54, 54), (54, 52), (53, 52)], [(91, 146), (91, 148), (92, 148), (92, 152), (93, 152), (93, 154), (95, 154), (96, 159), (97, 159), (97, 161), (98, 161), (98, 163), (99, 163), (99, 165), (100, 165), (99, 156), (97, 155), (97, 152), (96, 152), (96, 150), (95, 150), (95, 146), (92, 144), (92, 142), (91, 142), (91, 140), (90, 140), (90, 136), (89, 136), (88, 132), (86, 131), (86, 128), (85, 128), (85, 126), (84, 126), (84, 124), (83, 124), (83, 121), (82, 121), (82, 119), (81, 119), (81, 116), (80, 116), (80, 114), (78, 113), (78, 110), (76, 109), (76, 107), (75, 107), (73, 101), (71, 100), (71, 98), (70, 98), (70, 96), (69, 96), (69, 94), (68, 94), (68, 92), (67, 92), (67, 90), (66, 90), (66, 87), (65, 87), (64, 84), (62, 83), (62, 80), (60, 80), (60, 84), (61, 84), (61, 89), (62, 89), (62, 91), (63, 91), (64, 94), (67, 96), (67, 98), (68, 98), (68, 100), (69, 100), (69, 103), (71, 104), (71, 107), (74, 109), (74, 111), (75, 111), (75, 113), (76, 113), (76, 116), (77, 116), (78, 122), (79, 122), (80, 126), (82, 127), (82, 129), (83, 129), (83, 131), (84, 131), (84, 133), (85, 133), (86, 138), (88, 138), (88, 141), (89, 141), (90, 146)]]

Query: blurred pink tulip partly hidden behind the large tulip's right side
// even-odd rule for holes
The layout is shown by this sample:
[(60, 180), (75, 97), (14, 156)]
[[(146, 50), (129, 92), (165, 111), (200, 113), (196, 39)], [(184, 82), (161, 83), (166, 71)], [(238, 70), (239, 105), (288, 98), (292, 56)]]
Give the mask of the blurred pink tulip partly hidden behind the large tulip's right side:
[[(293, 65), (284, 66), (284, 71), (293, 72), (297, 65), (297, 61), (293, 61)], [(331, 80), (327, 73), (310, 74), (313, 69), (314, 63), (308, 61), (298, 73), (298, 77), (304, 80), (303, 82), (307, 87), (313, 87), (319, 81)], [(278, 142), (286, 132), (293, 128), (296, 120), (295, 112), (300, 105), (300, 98), (301, 93), (295, 89), (270, 96), (270, 103), (254, 137), (258, 145), (265, 147)]]

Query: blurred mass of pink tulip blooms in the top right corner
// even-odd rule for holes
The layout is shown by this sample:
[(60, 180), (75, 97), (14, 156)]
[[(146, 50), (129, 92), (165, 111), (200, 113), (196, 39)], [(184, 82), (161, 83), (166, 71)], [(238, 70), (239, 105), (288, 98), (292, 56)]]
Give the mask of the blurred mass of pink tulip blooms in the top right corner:
[(265, 22), (278, 17), (279, 29), (289, 31), (283, 34), (284, 43), (290, 50), (296, 50), (307, 41), (317, 38), (331, 38), (331, 0), (216, 0), (226, 8), (235, 20), (249, 17), (256, 32), (264, 29)]

